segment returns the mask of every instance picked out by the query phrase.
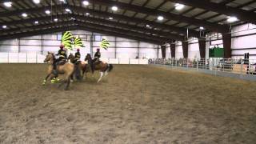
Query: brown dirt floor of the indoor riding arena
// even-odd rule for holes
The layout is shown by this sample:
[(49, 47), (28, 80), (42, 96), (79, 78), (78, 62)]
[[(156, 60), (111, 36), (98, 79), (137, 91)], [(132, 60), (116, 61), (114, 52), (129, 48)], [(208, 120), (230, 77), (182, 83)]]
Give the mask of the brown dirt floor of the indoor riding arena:
[(124, 65), (65, 91), (45, 73), (0, 65), (0, 143), (256, 142), (256, 82)]

